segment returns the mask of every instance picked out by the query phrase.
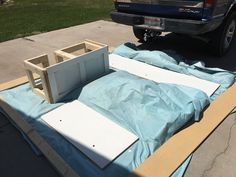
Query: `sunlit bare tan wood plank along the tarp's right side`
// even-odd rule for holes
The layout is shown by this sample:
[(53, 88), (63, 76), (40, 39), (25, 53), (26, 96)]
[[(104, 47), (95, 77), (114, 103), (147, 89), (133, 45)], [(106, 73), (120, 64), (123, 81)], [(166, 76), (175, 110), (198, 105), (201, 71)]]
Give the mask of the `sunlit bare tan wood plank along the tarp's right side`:
[(204, 111), (200, 122), (171, 137), (129, 177), (168, 177), (217, 128), (236, 106), (236, 84)]

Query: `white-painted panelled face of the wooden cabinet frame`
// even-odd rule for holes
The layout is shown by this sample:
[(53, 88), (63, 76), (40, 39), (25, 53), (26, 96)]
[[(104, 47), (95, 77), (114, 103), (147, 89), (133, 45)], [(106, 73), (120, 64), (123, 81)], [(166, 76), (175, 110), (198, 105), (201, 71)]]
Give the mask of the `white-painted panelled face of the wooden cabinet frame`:
[(53, 102), (109, 71), (107, 48), (85, 53), (47, 68)]

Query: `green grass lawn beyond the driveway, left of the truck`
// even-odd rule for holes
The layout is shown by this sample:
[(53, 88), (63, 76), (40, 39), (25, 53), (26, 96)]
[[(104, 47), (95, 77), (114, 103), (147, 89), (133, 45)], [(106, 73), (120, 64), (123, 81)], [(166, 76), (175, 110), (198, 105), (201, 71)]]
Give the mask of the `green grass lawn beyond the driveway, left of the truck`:
[(113, 0), (15, 0), (0, 6), (0, 42), (109, 19)]

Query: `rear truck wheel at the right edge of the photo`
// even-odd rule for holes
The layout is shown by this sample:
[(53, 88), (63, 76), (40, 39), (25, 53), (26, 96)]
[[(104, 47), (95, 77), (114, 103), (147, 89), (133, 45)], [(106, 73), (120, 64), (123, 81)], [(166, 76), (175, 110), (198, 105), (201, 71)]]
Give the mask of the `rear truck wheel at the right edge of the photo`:
[(214, 32), (212, 42), (215, 49), (214, 53), (217, 56), (223, 56), (229, 50), (234, 40), (236, 29), (235, 14), (231, 13)]

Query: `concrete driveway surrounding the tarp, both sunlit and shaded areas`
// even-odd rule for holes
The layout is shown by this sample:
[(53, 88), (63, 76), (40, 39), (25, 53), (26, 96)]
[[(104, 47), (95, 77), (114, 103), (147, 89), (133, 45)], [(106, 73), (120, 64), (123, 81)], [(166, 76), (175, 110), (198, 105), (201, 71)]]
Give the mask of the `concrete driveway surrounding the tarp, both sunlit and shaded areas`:
[[(209, 54), (209, 48), (198, 40), (164, 34), (158, 40), (140, 44), (132, 29), (113, 22), (97, 21), (49, 33), (0, 43), (0, 83), (24, 76), (22, 61), (91, 39), (109, 46), (133, 42), (141, 49), (174, 50), (184, 59), (202, 60), (207, 66), (236, 71), (236, 43), (223, 58)], [(236, 116), (229, 116), (194, 153), (186, 177), (233, 177), (236, 174)], [(44, 157), (37, 157), (9, 121), (0, 115), (0, 176), (58, 176)], [(14, 170), (13, 170), (14, 169)]]

